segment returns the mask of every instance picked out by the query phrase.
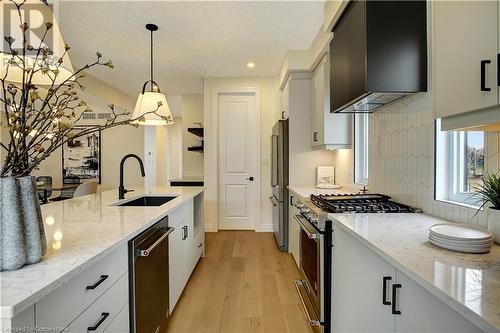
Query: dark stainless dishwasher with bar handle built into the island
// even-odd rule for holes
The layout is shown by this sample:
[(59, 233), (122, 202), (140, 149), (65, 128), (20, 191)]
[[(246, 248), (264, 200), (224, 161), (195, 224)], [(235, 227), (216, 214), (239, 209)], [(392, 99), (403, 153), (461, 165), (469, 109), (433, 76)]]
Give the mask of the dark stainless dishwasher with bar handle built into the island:
[(129, 242), (130, 330), (165, 332), (168, 304), (168, 217)]

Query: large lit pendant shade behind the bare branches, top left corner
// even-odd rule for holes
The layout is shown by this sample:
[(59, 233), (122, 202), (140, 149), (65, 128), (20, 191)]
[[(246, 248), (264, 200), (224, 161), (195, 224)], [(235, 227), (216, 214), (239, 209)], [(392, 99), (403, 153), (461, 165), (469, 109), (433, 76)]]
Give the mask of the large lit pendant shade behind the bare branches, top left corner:
[[(31, 82), (35, 85), (51, 85), (52, 81), (56, 85), (63, 83), (73, 75), (73, 66), (69, 59), (68, 53), (66, 52), (64, 40), (59, 30), (59, 25), (55, 18), (52, 9), (40, 0), (27, 0), (20, 7), (20, 13), (17, 13), (17, 7), (15, 4), (0, 1), (0, 17), (4, 18), (5, 23), (4, 29), (8, 28), (8, 35), (14, 38), (14, 43), (12, 47), (17, 50), (22, 50), (23, 45), (23, 31), (20, 28), (21, 19), (29, 21), (29, 29), (26, 32), (27, 44), (33, 44), (38, 47), (40, 40), (32, 33), (32, 29), (37, 27), (45, 27), (47, 23), (52, 23), (52, 27), (47, 31), (47, 37), (45, 43), (41, 46), (46, 46), (53, 51), (53, 55), (43, 60), (41, 56), (36, 56), (36, 52), (26, 51), (23, 58), (24, 66), (7, 65), (12, 59), (12, 55), (9, 44), (1, 36), (0, 41), (0, 76), (5, 77), (5, 79), (12, 83), (22, 83), (23, 75), (26, 76), (25, 70), (34, 70), (33, 78)], [(7, 31), (7, 30), (6, 30)], [(3, 31), (4, 34), (7, 34)], [(30, 39), (31, 38), (31, 39)], [(27, 46), (26, 46), (27, 47)], [(61, 59), (61, 63), (57, 66), (57, 61)], [(49, 71), (44, 73), (41, 68), (47, 67)], [(58, 75), (56, 76), (52, 71), (58, 70)]]

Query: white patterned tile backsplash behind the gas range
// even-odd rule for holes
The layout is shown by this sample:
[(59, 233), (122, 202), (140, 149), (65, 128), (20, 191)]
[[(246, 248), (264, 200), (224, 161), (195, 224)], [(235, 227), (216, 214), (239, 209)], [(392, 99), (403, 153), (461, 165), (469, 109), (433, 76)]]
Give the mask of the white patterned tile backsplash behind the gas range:
[[(370, 115), (369, 189), (455, 222), (486, 226), (484, 212), (434, 200), (434, 116), (430, 93), (406, 97)], [(500, 135), (486, 134), (486, 169), (500, 165)], [(345, 165), (345, 161), (336, 164)], [(343, 174), (348, 174), (344, 171)]]

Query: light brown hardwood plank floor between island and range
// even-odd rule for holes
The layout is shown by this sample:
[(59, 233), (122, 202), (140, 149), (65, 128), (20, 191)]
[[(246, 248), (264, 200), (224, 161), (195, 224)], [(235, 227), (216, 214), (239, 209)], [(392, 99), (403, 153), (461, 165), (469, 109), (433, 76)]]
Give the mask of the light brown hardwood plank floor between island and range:
[(310, 333), (293, 280), (299, 271), (272, 233), (206, 234), (168, 332)]

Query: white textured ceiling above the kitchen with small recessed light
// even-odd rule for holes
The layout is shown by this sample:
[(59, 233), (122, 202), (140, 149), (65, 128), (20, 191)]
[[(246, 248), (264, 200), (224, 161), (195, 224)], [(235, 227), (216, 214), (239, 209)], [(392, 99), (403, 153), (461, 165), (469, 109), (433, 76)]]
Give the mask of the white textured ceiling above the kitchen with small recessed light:
[[(59, 24), (74, 66), (100, 51), (115, 69), (92, 74), (136, 95), (149, 77), (155, 23), (155, 81), (164, 93), (203, 91), (204, 77), (273, 76), (289, 49), (307, 49), (323, 1), (64, 1)], [(256, 64), (254, 70), (246, 67)]]

